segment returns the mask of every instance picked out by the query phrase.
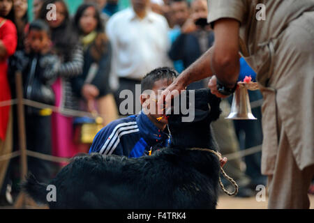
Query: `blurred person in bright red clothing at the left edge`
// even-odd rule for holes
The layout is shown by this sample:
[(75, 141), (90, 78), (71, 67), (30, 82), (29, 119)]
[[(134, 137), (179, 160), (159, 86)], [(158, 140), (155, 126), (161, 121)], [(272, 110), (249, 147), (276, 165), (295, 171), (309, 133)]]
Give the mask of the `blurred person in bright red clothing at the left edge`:
[[(5, 6), (6, 5), (6, 6)], [(9, 5), (9, 6), (8, 6)], [(12, 11), (13, 2), (0, 0), (0, 102), (10, 100), (8, 82), (8, 57), (13, 55), (17, 47), (17, 30), (12, 21), (5, 19)], [(13, 118), (10, 106), (0, 107), (0, 155), (12, 152)], [(0, 161), (0, 206), (8, 205), (13, 200), (8, 197), (7, 169), (10, 160)], [(10, 185), (9, 185), (10, 187)]]

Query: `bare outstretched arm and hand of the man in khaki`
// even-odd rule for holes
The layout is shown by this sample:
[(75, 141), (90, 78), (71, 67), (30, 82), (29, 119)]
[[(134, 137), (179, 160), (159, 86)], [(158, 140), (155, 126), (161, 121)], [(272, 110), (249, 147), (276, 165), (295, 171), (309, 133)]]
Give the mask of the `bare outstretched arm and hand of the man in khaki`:
[[(163, 91), (159, 105), (170, 102), (173, 93), (182, 91), (192, 82), (216, 75), (220, 82), (232, 88), (239, 75), (239, 22), (233, 19), (220, 19), (214, 23), (215, 42), (207, 52), (190, 65)], [(212, 81), (213, 82), (213, 81)], [(216, 82), (215, 82), (216, 84)], [(211, 88), (212, 93), (223, 97)], [(213, 92), (214, 91), (214, 92)]]

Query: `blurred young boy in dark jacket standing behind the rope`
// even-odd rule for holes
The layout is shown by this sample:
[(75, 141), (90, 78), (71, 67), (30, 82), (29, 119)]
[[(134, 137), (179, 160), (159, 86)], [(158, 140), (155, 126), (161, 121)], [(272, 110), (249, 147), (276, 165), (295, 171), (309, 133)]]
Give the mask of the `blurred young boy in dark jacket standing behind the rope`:
[[(42, 20), (35, 20), (27, 31), (29, 50), (15, 53), (15, 61), (11, 72), (22, 72), (24, 98), (54, 105), (54, 92), (51, 85), (57, 77), (59, 61), (50, 53), (50, 27)], [(52, 109), (38, 109), (26, 106), (25, 130), (27, 149), (51, 155), (51, 114)], [(36, 157), (28, 157), (28, 169), (40, 181), (47, 183), (52, 177), (50, 162)]]

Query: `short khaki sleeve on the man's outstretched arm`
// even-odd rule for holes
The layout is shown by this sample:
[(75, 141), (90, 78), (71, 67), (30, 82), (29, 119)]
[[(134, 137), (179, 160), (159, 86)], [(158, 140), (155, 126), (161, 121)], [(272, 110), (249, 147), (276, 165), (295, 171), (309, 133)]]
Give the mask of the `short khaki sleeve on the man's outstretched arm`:
[(242, 23), (246, 13), (245, 0), (207, 0), (207, 7), (208, 23), (222, 18), (231, 18)]

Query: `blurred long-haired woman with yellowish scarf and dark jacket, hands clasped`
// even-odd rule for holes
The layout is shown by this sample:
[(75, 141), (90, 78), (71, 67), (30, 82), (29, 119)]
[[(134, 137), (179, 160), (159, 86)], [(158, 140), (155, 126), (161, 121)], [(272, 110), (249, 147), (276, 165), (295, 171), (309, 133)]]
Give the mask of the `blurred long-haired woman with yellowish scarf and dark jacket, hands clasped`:
[[(82, 101), (80, 109), (99, 114), (105, 126), (118, 118), (118, 112), (109, 83), (112, 48), (96, 7), (93, 3), (84, 3), (77, 9), (74, 17), (75, 29), (83, 45), (84, 66), (82, 75), (73, 79), (72, 86), (76, 96)], [(75, 121), (84, 123), (91, 120), (75, 118)], [(85, 153), (89, 146), (85, 145)]]

